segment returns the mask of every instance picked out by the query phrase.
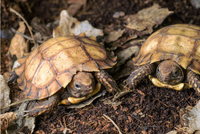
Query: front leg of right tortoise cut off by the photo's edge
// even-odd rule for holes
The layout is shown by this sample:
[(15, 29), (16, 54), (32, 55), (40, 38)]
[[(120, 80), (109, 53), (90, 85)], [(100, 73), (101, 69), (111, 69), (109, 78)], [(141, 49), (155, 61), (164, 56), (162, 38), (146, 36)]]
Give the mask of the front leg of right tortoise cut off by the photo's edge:
[(199, 78), (199, 75), (195, 74), (192, 71), (189, 71), (188, 74), (187, 74), (187, 81), (190, 85), (192, 85), (194, 90), (196, 90), (197, 95), (200, 96), (200, 78)]

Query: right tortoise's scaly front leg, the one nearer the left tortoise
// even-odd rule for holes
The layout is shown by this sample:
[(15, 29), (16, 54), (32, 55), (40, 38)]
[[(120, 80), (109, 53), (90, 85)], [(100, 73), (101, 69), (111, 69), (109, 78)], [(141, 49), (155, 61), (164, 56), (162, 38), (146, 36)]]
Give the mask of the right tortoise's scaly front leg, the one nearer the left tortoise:
[(131, 73), (131, 75), (126, 80), (127, 86), (130, 89), (135, 89), (138, 83), (147, 75), (155, 72), (155, 65), (149, 64), (144, 65)]

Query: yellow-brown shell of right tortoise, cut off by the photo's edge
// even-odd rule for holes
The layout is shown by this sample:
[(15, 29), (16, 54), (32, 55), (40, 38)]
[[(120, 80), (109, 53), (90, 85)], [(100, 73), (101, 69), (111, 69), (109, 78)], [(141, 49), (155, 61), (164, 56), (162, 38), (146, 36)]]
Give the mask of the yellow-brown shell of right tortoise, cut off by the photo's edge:
[(200, 27), (177, 24), (156, 31), (133, 61), (136, 65), (145, 65), (168, 59), (200, 74)]

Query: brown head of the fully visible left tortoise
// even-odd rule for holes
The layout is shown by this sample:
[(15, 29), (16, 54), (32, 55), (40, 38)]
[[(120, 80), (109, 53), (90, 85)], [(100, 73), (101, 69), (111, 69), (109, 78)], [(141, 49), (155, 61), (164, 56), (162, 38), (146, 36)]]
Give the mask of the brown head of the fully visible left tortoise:
[(73, 97), (83, 97), (92, 93), (95, 89), (95, 80), (91, 73), (78, 72), (68, 85), (68, 92)]

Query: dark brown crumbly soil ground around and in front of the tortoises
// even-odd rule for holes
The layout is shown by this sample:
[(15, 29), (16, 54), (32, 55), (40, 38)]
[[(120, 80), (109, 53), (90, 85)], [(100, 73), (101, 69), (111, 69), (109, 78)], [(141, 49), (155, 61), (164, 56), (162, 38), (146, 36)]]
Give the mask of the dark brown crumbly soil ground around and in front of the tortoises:
[[(112, 17), (115, 12), (135, 14), (154, 3), (174, 11), (174, 14), (167, 17), (158, 28), (177, 23), (200, 26), (200, 10), (194, 8), (189, 0), (88, 0), (74, 17), (80, 21), (88, 20), (99, 29), (110, 26), (117, 30), (124, 28), (124, 24), (120, 18)], [(9, 12), (10, 7), (22, 14), (29, 24), (35, 16), (40, 18), (42, 24), (47, 24), (57, 20), (60, 12), (67, 9), (69, 4), (65, 0), (2, 0), (1, 29), (18, 28), (20, 18)], [(28, 30), (25, 34), (30, 35)], [(9, 61), (6, 53), (9, 44), (10, 39), (1, 37), (1, 74), (8, 71)], [(105, 45), (108, 48), (110, 46), (110, 44)], [(117, 51), (119, 49), (115, 50)], [(133, 66), (129, 68), (134, 69)], [(124, 67), (121, 67), (119, 71), (123, 69)], [(116, 78), (116, 74), (112, 76)], [(118, 79), (117, 83), (121, 83), (127, 77)], [(187, 105), (194, 106), (199, 99), (193, 89), (174, 91), (158, 88), (148, 79), (143, 80), (138, 89), (120, 98), (118, 100), (121, 102), (120, 105), (105, 104), (105, 99), (111, 100), (112, 97), (112, 94), (106, 93), (105, 96), (95, 100), (92, 105), (81, 109), (69, 110), (65, 106), (57, 106), (50, 113), (37, 117), (34, 132), (62, 134), (64, 130), (67, 130), (66, 133), (73, 134), (118, 133), (113, 123), (103, 116), (105, 114), (123, 133), (166, 133), (180, 125), (179, 110)], [(29, 133), (26, 129), (23, 131)]]

